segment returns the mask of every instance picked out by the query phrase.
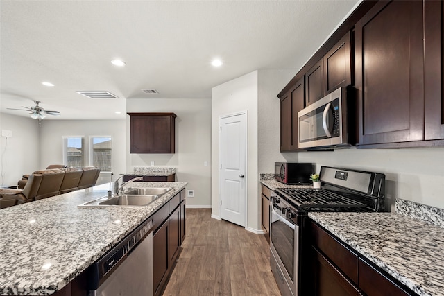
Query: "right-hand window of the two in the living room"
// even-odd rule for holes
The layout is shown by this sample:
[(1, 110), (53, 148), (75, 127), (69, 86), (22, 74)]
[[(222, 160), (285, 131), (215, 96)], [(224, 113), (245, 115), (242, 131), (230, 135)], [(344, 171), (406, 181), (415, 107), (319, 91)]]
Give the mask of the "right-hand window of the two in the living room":
[(89, 164), (99, 166), (102, 171), (112, 170), (112, 139), (98, 136), (89, 138)]

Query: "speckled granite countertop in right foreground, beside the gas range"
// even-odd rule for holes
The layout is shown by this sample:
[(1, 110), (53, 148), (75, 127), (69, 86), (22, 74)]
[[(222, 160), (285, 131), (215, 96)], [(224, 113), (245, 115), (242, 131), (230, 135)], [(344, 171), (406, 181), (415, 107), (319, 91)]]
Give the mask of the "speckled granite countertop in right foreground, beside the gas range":
[(309, 217), (418, 295), (444, 295), (444, 229), (395, 213)]

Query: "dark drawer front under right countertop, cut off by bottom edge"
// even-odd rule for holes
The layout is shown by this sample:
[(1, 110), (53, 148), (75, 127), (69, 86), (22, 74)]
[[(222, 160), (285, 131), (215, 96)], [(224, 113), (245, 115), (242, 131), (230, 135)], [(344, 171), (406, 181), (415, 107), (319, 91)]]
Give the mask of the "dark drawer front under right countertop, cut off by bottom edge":
[(359, 288), (368, 296), (411, 295), (362, 259), (359, 259)]

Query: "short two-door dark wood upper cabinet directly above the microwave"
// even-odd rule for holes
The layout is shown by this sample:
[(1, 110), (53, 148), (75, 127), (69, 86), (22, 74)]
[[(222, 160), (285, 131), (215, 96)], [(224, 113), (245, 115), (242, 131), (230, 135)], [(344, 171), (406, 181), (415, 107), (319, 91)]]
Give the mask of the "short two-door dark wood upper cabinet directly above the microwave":
[(305, 107), (352, 84), (350, 32), (305, 73)]

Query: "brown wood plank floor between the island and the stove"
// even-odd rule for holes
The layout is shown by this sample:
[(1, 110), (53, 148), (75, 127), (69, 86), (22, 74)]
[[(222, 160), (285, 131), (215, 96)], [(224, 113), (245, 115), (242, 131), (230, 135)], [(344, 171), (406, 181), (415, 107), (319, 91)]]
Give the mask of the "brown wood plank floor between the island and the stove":
[(186, 210), (183, 250), (164, 295), (280, 295), (262, 235)]

